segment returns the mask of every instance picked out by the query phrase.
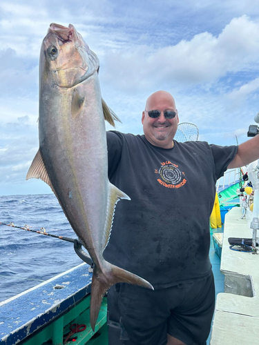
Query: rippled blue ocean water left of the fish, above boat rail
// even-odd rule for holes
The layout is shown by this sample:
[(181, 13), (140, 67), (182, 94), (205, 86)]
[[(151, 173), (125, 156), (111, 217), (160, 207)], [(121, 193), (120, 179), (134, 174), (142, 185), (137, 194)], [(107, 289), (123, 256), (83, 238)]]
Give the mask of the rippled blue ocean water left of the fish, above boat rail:
[[(0, 196), (0, 222), (77, 238), (55, 195)], [(0, 225), (0, 302), (82, 263), (73, 243)]]

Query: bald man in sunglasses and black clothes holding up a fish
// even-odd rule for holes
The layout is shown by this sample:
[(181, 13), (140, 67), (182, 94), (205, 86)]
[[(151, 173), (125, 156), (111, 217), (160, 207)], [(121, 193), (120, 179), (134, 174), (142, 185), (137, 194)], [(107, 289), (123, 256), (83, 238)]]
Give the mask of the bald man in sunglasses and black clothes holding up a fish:
[(209, 335), (215, 182), (227, 168), (258, 159), (259, 140), (178, 143), (178, 122), (173, 97), (158, 91), (142, 112), (144, 135), (107, 132), (109, 179), (131, 201), (117, 204), (104, 258), (155, 288), (116, 284), (108, 291), (110, 345), (204, 345)]

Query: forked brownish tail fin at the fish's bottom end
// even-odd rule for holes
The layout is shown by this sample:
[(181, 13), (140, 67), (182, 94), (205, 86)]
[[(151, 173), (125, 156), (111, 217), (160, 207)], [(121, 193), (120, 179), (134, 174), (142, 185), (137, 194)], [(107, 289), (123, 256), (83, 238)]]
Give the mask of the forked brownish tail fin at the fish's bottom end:
[(117, 283), (128, 283), (142, 286), (143, 288), (150, 288), (153, 290), (153, 286), (148, 283), (145, 279), (142, 279), (138, 275), (119, 268), (106, 262), (110, 266), (108, 273), (96, 273), (95, 269), (93, 272), (92, 287), (91, 287), (91, 298), (90, 298), (90, 324), (95, 331), (95, 323), (99, 314), (99, 309), (102, 303), (102, 297), (106, 291)]

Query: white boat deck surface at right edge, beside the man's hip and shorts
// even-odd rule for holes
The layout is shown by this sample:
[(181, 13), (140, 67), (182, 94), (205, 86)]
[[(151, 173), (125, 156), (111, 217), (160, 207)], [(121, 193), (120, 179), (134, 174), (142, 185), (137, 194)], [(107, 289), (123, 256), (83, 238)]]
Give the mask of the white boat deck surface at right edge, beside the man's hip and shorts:
[(226, 215), (221, 257), (224, 293), (215, 306), (211, 345), (259, 344), (259, 255), (229, 249), (229, 237), (251, 238), (241, 208)]

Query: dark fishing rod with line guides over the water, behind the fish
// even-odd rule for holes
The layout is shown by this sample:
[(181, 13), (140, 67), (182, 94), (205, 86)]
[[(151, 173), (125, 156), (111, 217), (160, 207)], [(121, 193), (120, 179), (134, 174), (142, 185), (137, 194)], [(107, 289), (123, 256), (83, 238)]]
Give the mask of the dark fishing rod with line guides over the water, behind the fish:
[(71, 242), (74, 244), (75, 253), (77, 253), (77, 255), (80, 257), (80, 259), (82, 259), (84, 262), (86, 262), (86, 264), (93, 267), (93, 261), (90, 258), (90, 256), (88, 254), (86, 254), (86, 252), (83, 250), (83, 248), (81, 248), (81, 246), (84, 246), (84, 244), (82, 244), (81, 241), (79, 241), (79, 239), (73, 239), (71, 237), (57, 236), (57, 235), (53, 235), (50, 233), (46, 233), (45, 228), (41, 228), (41, 231), (39, 231), (39, 230), (30, 229), (30, 227), (28, 225), (25, 225), (24, 227), (16, 226), (12, 222), (10, 222), (10, 224), (6, 224), (6, 223), (2, 223), (0, 221), (0, 225), (10, 226), (11, 228), (18, 228), (18, 229), (22, 229), (22, 230), (27, 230), (27, 231), (30, 231), (32, 233), (37, 233), (37, 234), (41, 234), (41, 235), (45, 235), (45, 236), (55, 237), (58, 239), (62, 239), (63, 241), (66, 241), (66, 242)]

